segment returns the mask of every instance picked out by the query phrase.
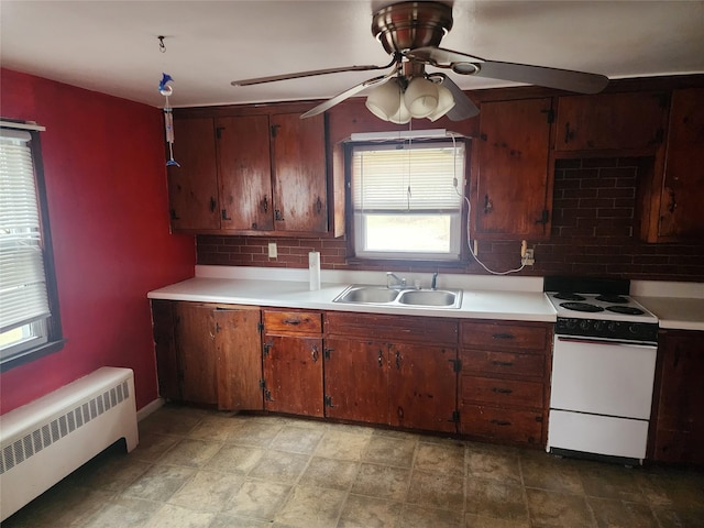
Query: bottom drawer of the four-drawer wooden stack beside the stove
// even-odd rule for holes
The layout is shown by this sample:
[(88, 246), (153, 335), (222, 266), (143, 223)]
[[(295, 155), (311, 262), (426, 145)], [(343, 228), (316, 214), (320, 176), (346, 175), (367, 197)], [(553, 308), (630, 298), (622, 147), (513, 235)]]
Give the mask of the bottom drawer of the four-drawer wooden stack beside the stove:
[(507, 442), (542, 444), (542, 414), (480, 405), (460, 408), (460, 432)]

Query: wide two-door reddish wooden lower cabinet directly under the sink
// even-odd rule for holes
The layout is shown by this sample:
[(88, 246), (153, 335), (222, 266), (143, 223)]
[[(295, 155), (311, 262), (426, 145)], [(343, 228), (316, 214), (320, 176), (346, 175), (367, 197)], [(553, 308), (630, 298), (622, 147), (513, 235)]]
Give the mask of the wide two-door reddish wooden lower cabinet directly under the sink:
[(328, 312), (326, 333), (326, 416), (457, 430), (457, 321)]

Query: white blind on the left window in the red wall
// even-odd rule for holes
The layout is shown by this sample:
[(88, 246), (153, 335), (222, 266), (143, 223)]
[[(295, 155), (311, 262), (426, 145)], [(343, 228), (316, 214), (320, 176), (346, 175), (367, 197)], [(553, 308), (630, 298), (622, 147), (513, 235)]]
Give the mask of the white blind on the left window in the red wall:
[(50, 316), (30, 141), (0, 134), (0, 332)]

